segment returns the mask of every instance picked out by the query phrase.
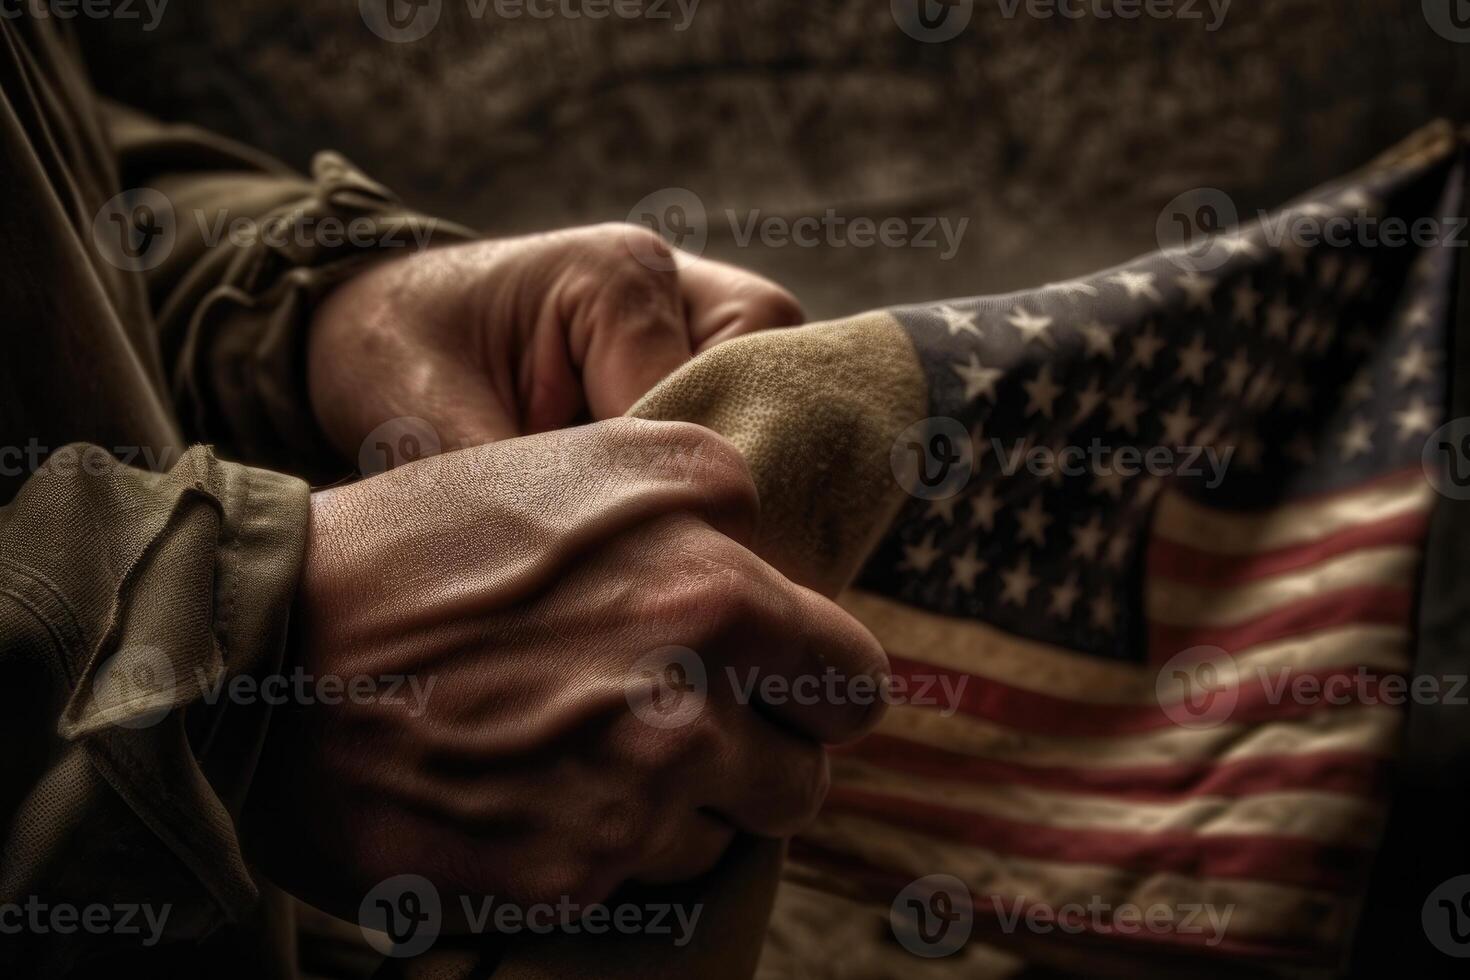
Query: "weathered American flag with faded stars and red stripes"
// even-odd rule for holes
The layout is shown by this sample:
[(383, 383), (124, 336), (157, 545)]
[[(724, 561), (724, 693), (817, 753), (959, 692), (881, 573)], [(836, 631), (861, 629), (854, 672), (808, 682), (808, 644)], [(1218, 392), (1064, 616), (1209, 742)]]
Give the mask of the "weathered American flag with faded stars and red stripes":
[[(1402, 699), (1372, 693), (1411, 666), (1463, 185), (1436, 126), (1223, 232), (1210, 262), (1160, 251), (892, 311), (931, 414), (969, 433), (969, 479), (910, 502), (844, 602), (895, 676), (963, 680), (963, 696), (897, 705), (835, 758), (788, 884), (886, 914), (910, 882), (951, 874), (976, 940), (1073, 967), (1341, 964), (1402, 729)], [(1426, 217), (1433, 244), (1280, 235)], [(1067, 473), (1014, 464), (1066, 447), (1102, 451)], [(1155, 464), (1130, 470), (1125, 447)], [(1204, 453), (1191, 467), (1197, 450), (1223, 476)], [(1283, 696), (1283, 676), (1352, 696)], [(1210, 692), (1225, 708), (1191, 714)], [(1232, 914), (1211, 943), (1105, 917), (1028, 937), (1003, 929), (1016, 902)], [(980, 976), (964, 955), (904, 973)]]

